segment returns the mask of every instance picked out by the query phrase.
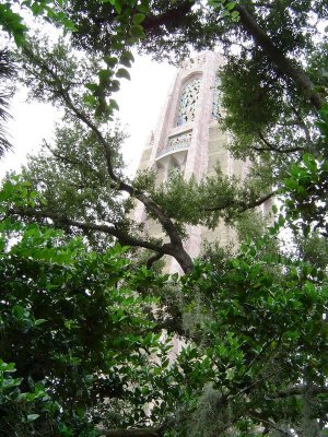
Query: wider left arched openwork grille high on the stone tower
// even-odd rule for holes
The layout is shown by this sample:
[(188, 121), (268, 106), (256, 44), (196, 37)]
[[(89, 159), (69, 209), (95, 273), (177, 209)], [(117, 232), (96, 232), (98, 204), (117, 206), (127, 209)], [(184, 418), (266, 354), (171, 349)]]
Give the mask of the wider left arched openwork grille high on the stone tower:
[(184, 86), (178, 106), (176, 126), (183, 126), (195, 120), (200, 81), (200, 78), (192, 79)]

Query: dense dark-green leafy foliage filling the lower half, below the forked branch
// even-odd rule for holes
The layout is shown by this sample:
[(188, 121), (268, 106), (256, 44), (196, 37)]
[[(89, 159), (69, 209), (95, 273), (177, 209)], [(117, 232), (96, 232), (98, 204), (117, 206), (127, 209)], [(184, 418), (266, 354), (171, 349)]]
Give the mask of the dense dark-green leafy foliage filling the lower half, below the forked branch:
[[(26, 182), (7, 181), (1, 201), (4, 430), (91, 436), (101, 422), (113, 437), (304, 432), (313, 416), (324, 426), (321, 258), (270, 253), (267, 236), (180, 279), (156, 276), (119, 248), (97, 255), (14, 220), (13, 205), (38, 201)], [(163, 327), (188, 344), (171, 365)]]

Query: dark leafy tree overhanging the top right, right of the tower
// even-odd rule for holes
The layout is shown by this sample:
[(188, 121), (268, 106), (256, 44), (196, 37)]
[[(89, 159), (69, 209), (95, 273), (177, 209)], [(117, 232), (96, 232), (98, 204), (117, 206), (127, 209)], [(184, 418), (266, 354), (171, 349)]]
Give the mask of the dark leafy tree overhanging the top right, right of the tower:
[[(115, 12), (106, 2), (91, 4), (87, 21), (84, 3), (72, 1), (68, 7), (77, 23), (74, 44), (97, 52), (103, 47), (115, 51), (110, 26), (106, 26), (108, 21), (116, 22)], [(258, 179), (278, 187), (282, 179), (293, 179), (304, 153), (326, 162), (326, 140), (314, 129), (314, 118), (327, 96), (327, 43), (316, 32), (327, 15), (325, 2), (214, 0), (200, 5), (197, 1), (155, 1), (147, 8), (139, 46), (154, 56), (186, 55), (188, 45), (198, 50), (215, 44), (223, 47), (227, 60), (220, 74), (226, 109), (223, 127), (234, 139), (231, 151), (251, 158)], [(232, 47), (238, 48), (237, 55)], [(321, 113), (321, 117), (326, 116)], [(308, 192), (325, 198), (325, 187), (316, 189), (315, 178), (307, 184)], [(220, 204), (211, 208), (221, 210)], [(302, 210), (306, 215), (306, 206)]]

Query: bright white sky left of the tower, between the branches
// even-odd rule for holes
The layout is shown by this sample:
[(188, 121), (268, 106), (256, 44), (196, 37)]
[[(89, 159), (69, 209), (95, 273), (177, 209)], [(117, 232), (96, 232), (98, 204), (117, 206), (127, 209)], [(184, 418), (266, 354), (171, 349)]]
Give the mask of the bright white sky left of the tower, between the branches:
[[(174, 80), (176, 69), (168, 63), (157, 63), (150, 57), (136, 56), (129, 70), (131, 81), (121, 79), (121, 90), (114, 98), (119, 104), (119, 118), (130, 133), (122, 149), (128, 174), (136, 172), (142, 147), (155, 128), (161, 109)], [(8, 126), (13, 151), (7, 152), (1, 161), (1, 175), (9, 169), (19, 170), (33, 154), (44, 138), (51, 139), (56, 111), (50, 105), (26, 103), (26, 91), (20, 91), (11, 101), (13, 120)]]

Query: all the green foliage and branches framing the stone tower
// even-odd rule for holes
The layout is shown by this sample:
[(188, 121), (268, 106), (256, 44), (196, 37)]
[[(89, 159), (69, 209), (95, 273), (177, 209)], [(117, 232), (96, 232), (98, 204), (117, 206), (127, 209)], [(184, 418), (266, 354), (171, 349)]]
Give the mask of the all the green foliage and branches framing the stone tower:
[[(324, 435), (327, 44), (315, 28), (327, 4), (19, 3), (63, 26), (50, 42), (27, 35), (14, 3), (0, 5), (0, 24), (20, 47), (22, 80), (63, 120), (0, 193), (0, 433)], [(251, 163), (248, 179), (218, 168), (200, 182), (128, 180), (124, 134), (107, 121), (132, 47), (161, 58), (215, 44), (227, 59), (220, 122)], [(277, 193), (266, 229), (251, 210)], [(134, 200), (165, 241), (131, 220)], [(239, 248), (208, 246), (192, 260), (186, 225), (222, 218)], [(163, 256), (185, 274), (154, 273)], [(181, 350), (169, 352), (174, 336)]]

